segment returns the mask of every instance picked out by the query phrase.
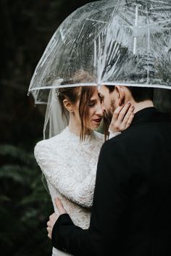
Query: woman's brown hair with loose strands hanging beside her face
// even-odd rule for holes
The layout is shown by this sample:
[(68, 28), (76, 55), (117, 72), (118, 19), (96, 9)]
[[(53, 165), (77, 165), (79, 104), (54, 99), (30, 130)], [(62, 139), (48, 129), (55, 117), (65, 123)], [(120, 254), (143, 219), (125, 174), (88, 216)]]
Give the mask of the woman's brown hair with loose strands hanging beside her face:
[[(75, 75), (73, 75), (73, 78), (70, 80), (65, 80), (61, 83), (61, 85), (64, 84), (83, 84), (83, 83), (92, 83), (93, 82), (93, 76), (90, 75), (85, 70), (78, 70)], [(96, 91), (96, 86), (74, 86), (74, 87), (64, 87), (59, 88), (57, 90), (57, 95), (59, 97), (59, 103), (62, 107), (62, 115), (65, 117), (68, 117), (68, 111), (64, 107), (63, 101), (64, 99), (68, 99), (71, 104), (76, 104), (78, 100), (80, 100), (79, 103), (79, 115), (80, 115), (80, 121), (81, 121), (81, 131), (80, 131), (80, 141), (84, 141), (86, 139), (86, 135), (91, 134), (91, 128), (89, 124), (89, 102), (91, 99), (91, 96)], [(68, 118), (67, 118), (68, 119)]]

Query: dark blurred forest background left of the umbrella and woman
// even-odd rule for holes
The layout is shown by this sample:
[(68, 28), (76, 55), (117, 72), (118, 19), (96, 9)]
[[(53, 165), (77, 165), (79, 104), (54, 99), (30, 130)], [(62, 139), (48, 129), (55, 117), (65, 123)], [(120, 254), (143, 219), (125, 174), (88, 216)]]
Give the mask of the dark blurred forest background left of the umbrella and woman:
[(85, 0), (1, 0), (0, 249), (3, 256), (51, 255), (53, 212), (33, 149), (43, 139), (43, 106), (28, 86), (60, 23)]

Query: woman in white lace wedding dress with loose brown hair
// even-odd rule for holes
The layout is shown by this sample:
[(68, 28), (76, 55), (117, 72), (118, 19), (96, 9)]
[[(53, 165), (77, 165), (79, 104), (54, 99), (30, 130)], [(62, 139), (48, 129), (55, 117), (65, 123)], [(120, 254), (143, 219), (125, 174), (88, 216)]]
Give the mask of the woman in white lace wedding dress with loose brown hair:
[[(77, 83), (88, 82), (91, 76), (81, 72), (73, 80)], [(59, 88), (56, 96), (63, 117), (69, 114), (69, 123), (61, 133), (39, 141), (34, 153), (46, 177), (54, 211), (57, 212), (54, 199), (59, 197), (75, 225), (88, 228), (96, 165), (105, 140), (104, 134), (96, 131), (104, 117), (102, 99), (96, 86)], [(125, 115), (132, 118), (133, 110), (130, 107), (124, 108)], [(114, 133), (114, 125), (110, 129), (113, 136), (117, 135)], [(53, 248), (52, 255), (68, 254)]]

